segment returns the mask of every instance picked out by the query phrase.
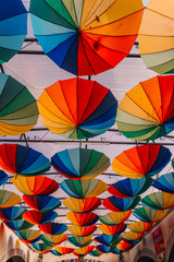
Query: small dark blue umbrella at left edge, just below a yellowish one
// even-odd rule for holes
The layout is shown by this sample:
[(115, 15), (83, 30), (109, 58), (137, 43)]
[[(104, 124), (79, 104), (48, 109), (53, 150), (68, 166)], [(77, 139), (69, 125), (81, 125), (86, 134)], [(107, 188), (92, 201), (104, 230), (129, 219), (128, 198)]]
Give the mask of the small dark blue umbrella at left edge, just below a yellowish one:
[(0, 209), (0, 218), (9, 222), (20, 221), (25, 212), (26, 210), (22, 206)]

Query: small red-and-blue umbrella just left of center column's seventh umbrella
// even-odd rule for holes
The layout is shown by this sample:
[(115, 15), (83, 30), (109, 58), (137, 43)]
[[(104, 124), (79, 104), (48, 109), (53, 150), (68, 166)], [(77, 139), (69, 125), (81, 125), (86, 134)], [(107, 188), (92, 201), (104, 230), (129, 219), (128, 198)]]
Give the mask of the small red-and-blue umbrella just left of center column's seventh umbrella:
[(64, 224), (59, 224), (54, 222), (41, 224), (41, 225), (38, 225), (38, 227), (41, 231), (49, 235), (60, 235), (67, 229), (67, 226), (65, 226)]

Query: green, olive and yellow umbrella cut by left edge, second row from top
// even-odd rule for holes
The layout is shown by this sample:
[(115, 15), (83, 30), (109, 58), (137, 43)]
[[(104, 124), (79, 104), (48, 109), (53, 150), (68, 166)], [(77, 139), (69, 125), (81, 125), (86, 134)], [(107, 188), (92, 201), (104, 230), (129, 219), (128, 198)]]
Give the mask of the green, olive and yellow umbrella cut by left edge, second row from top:
[(0, 134), (18, 135), (28, 132), (39, 116), (35, 97), (26, 86), (8, 74), (0, 73)]

